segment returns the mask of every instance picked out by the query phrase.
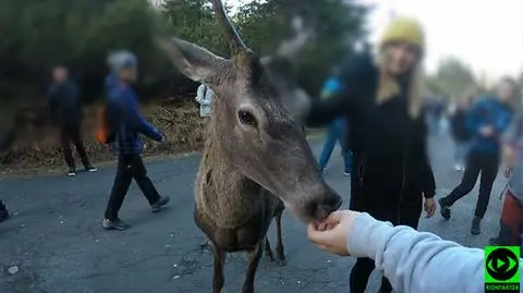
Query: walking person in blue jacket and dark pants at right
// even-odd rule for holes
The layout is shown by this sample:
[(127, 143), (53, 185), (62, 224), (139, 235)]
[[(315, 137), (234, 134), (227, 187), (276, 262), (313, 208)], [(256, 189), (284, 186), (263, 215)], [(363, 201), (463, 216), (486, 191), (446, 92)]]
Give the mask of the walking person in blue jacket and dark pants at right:
[(499, 83), (496, 96), (479, 98), (473, 105), (466, 119), (473, 141), (466, 159), (465, 172), (460, 185), (448, 196), (439, 199), (441, 216), (448, 220), (450, 219), (450, 207), (474, 188), (479, 173), (482, 174), (479, 196), (471, 225), (472, 234), (482, 232), (481, 222), (487, 211), (492, 184), (498, 174), (501, 135), (510, 125), (512, 118), (510, 101), (515, 93), (515, 83), (506, 77)]

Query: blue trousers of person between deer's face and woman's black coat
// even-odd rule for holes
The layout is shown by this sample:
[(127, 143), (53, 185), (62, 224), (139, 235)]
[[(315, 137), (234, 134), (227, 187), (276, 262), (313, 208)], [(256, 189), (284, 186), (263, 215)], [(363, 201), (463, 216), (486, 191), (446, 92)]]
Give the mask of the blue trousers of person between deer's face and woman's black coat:
[(341, 146), (341, 151), (343, 154), (343, 162), (345, 172), (350, 173), (352, 170), (352, 154), (349, 149), (349, 146), (345, 145), (345, 135), (346, 135), (346, 120), (344, 118), (338, 118), (337, 120), (330, 123), (327, 129), (327, 137), (325, 139), (324, 148), (321, 155), (319, 156), (319, 168), (324, 170), (327, 167), (327, 163), (330, 160), (332, 150), (335, 149), (336, 143), (339, 142)]

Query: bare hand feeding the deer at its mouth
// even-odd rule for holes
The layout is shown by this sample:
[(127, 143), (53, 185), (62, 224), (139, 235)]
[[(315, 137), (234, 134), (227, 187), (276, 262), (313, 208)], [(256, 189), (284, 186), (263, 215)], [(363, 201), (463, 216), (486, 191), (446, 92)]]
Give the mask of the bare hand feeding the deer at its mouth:
[(307, 236), (319, 248), (332, 254), (346, 256), (346, 236), (352, 229), (357, 211), (338, 210), (320, 223), (309, 223)]

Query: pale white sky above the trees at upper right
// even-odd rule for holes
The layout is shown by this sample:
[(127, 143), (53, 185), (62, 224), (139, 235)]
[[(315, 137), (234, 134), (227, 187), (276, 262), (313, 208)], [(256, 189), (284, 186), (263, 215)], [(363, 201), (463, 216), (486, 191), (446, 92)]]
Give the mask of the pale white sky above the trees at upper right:
[[(246, 0), (227, 0), (236, 4)], [(434, 72), (448, 56), (467, 63), (488, 80), (523, 71), (523, 0), (358, 0), (375, 4), (367, 20), (370, 40), (391, 20), (413, 16), (425, 28), (425, 68)]]

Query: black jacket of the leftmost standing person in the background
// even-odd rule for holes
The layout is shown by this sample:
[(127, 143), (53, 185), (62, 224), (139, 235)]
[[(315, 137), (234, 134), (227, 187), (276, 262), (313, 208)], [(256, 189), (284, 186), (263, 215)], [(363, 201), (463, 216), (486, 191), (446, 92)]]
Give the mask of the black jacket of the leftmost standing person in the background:
[(76, 127), (82, 123), (82, 100), (74, 82), (51, 84), (48, 99), (51, 119), (57, 126)]

